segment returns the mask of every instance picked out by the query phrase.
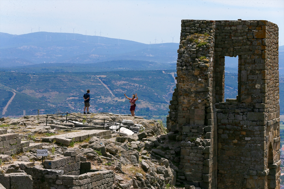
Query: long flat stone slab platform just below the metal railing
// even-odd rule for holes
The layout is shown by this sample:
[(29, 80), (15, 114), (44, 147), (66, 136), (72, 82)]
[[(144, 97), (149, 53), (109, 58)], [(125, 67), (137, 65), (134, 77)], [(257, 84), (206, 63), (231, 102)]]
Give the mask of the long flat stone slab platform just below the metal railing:
[(110, 130), (89, 130), (89, 131), (78, 131), (72, 133), (66, 133), (62, 135), (55, 135), (50, 137), (42, 138), (42, 142), (53, 142), (53, 140), (57, 137), (64, 137), (67, 139), (72, 139), (73, 141), (83, 141), (88, 137), (101, 137), (104, 135), (110, 135), (112, 131)]

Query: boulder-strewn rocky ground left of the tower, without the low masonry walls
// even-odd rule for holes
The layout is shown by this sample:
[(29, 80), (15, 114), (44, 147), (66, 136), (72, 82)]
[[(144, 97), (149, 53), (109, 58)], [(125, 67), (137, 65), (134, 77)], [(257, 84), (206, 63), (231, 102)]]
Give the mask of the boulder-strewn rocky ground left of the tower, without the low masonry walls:
[[(80, 116), (80, 113), (76, 115)], [(159, 122), (111, 113), (85, 114), (84, 116), (122, 121), (124, 124), (133, 123), (132, 127), (138, 125), (138, 128), (145, 130), (133, 135), (112, 130), (83, 131), (74, 130), (74, 128), (62, 130), (56, 128), (54, 124), (46, 126), (46, 115), (39, 115), (38, 118), (37, 116), (24, 116), (18, 119), (1, 118), (0, 128), (7, 129), (7, 133), (19, 133), (22, 141), (29, 141), (30, 144), (41, 143), (42, 149), (48, 149), (48, 156), (44, 158), (46, 163), (66, 158), (66, 156), (80, 155), (82, 162), (91, 162), (92, 170), (113, 170), (112, 187), (114, 189), (179, 188), (180, 180), (176, 177), (179, 174), (177, 166), (180, 142), (169, 140)], [(130, 127), (131, 125), (128, 125), (128, 129)], [(50, 139), (52, 141), (49, 141)], [(76, 142), (70, 146), (73, 141)], [(2, 162), (0, 176), (4, 173), (5, 175), (24, 174), (25, 172), (21, 169), (22, 164), (28, 167), (41, 166), (42, 157), (37, 156), (36, 152), (36, 149), (30, 149), (28, 152), (12, 156), (0, 153)], [(88, 169), (83, 169), (81, 164), (80, 174), (84, 173), (83, 170)], [(189, 185), (185, 187), (195, 188)]]

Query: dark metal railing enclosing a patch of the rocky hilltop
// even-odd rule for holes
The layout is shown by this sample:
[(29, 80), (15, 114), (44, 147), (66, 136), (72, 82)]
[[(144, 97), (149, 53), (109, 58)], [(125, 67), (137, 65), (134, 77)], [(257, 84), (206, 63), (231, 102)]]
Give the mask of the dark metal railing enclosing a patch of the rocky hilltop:
[[(66, 114), (66, 115), (65, 115)], [(84, 116), (84, 115), (83, 115)], [(78, 121), (74, 121), (78, 120)], [(102, 120), (98, 122), (97, 120)], [(85, 124), (87, 123), (87, 124)], [(119, 123), (119, 128), (110, 129), (110, 126), (114, 126), (115, 123)], [(104, 130), (118, 130), (120, 131), (121, 122), (120, 121), (110, 121), (106, 119), (97, 119), (97, 118), (84, 118), (77, 116), (68, 112), (58, 113), (58, 114), (47, 114), (46, 115), (46, 126), (47, 124), (57, 124), (67, 127), (102, 127)], [(103, 126), (102, 126), (103, 124)], [(107, 127), (105, 127), (107, 125)], [(116, 125), (118, 126), (118, 125)]]

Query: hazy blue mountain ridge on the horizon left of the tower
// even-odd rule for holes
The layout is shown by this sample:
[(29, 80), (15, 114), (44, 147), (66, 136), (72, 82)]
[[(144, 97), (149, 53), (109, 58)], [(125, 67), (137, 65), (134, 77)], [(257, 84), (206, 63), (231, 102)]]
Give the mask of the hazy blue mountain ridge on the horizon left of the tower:
[(96, 63), (111, 60), (168, 63), (176, 61), (179, 45), (149, 45), (124, 39), (43, 31), (23, 35), (0, 33), (0, 38), (1, 67), (38, 63)]

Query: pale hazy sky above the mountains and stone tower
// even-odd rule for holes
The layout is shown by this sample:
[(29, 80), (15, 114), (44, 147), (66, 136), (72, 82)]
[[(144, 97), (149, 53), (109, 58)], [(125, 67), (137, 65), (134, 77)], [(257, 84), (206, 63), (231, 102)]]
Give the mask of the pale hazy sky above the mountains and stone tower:
[[(284, 1), (6, 1), (0, 31), (48, 31), (101, 35), (141, 43), (179, 43), (180, 20), (268, 20), (284, 44)], [(40, 28), (39, 28), (40, 27)]]

